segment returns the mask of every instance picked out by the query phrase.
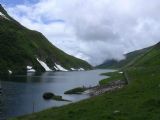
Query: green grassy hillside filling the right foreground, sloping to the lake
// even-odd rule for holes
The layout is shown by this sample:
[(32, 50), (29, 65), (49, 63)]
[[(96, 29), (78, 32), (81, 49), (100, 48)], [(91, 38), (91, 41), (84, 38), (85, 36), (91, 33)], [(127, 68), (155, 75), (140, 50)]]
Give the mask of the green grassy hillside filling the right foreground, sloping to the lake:
[[(159, 120), (160, 44), (135, 56), (121, 69), (129, 84), (120, 90), (14, 120)], [(117, 73), (109, 74), (111, 78), (121, 78)]]

